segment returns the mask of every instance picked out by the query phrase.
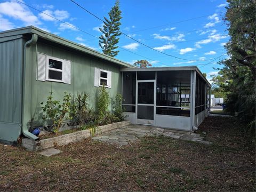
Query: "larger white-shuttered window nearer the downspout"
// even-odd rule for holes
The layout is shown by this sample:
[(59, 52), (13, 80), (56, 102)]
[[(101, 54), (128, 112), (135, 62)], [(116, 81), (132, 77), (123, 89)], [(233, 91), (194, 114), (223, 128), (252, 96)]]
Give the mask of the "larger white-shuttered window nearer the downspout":
[(71, 61), (37, 53), (37, 80), (71, 83)]

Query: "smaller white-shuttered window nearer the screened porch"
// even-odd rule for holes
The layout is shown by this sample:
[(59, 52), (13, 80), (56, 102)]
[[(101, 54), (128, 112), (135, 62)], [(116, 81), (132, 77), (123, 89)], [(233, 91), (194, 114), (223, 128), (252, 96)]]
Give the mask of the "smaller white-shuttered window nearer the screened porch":
[(94, 86), (111, 88), (111, 71), (94, 68)]

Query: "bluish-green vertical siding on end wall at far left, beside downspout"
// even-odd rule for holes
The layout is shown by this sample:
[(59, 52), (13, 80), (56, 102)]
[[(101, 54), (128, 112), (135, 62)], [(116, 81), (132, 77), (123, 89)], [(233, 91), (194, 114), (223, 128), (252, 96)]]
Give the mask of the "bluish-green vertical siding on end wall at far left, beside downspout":
[(22, 99), (22, 38), (0, 43), (0, 140), (20, 135)]

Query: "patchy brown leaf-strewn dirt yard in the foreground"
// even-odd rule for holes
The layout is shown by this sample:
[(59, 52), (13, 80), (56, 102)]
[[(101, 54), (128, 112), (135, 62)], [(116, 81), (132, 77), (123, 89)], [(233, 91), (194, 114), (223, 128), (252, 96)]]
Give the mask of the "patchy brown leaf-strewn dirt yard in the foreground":
[(44, 157), (0, 145), (0, 190), (255, 191), (255, 138), (245, 139), (241, 126), (207, 117), (198, 132), (210, 146), (165, 137), (121, 147), (86, 139)]

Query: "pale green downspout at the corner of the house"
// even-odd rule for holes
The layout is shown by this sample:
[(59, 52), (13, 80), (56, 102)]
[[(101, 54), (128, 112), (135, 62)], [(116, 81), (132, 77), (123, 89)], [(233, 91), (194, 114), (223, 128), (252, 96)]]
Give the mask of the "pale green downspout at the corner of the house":
[[(24, 55), (23, 55), (23, 85), (22, 85), (22, 109), (24, 109), (25, 106), (25, 77), (26, 77), (26, 63), (27, 63), (27, 58), (26, 58), (26, 51), (27, 51), (27, 47), (29, 47), (30, 45), (34, 45), (37, 42), (37, 35), (36, 34), (32, 34), (32, 37), (29, 41), (27, 41), (24, 45)], [(21, 124), (21, 131), (22, 134), (32, 140), (39, 140), (38, 137), (36, 137), (36, 135), (30, 133), (28, 131), (27, 126), (23, 126), (23, 119), (24, 119), (24, 111), (22, 111), (22, 124)]]

